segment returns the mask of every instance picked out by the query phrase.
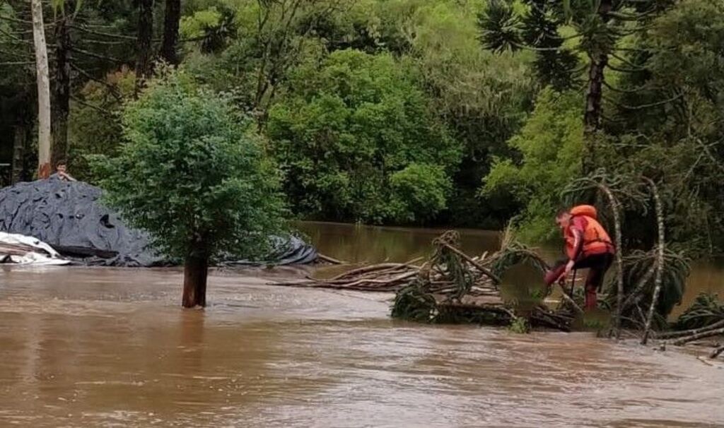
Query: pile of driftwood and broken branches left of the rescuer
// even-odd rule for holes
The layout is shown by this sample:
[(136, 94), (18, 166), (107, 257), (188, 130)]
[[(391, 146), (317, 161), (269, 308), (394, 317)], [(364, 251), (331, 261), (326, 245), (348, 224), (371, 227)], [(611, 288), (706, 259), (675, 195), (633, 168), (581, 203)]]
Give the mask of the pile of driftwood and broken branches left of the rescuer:
[(521, 307), (500, 293), (500, 275), (521, 262), (541, 270), (547, 265), (538, 255), (504, 239), (493, 254), (471, 257), (460, 250), (460, 236), (447, 231), (432, 242), (433, 254), (406, 263), (379, 263), (349, 270), (333, 278), (274, 283), (277, 286), (395, 292), (392, 316), (422, 322), (479, 322), (489, 325), (544, 326), (570, 330), (580, 311), (573, 301), (552, 311), (543, 304)]

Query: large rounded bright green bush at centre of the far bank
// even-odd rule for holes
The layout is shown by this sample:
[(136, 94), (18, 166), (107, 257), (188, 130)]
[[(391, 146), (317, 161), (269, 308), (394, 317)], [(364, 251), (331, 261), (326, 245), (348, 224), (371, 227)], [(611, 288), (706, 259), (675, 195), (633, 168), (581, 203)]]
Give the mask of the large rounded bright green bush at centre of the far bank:
[(297, 213), (379, 223), (431, 218), (445, 206), (460, 147), (408, 72), (392, 56), (353, 50), (295, 71), (267, 133)]

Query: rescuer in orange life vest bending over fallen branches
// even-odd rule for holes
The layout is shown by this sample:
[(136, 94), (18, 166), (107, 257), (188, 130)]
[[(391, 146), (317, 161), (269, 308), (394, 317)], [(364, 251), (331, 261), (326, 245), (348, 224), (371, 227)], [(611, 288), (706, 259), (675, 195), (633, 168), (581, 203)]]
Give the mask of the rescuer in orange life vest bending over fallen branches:
[(613, 263), (616, 252), (610, 236), (597, 220), (596, 208), (578, 205), (570, 210), (560, 210), (555, 222), (563, 232), (567, 259), (559, 260), (545, 275), (546, 286), (555, 281), (563, 282), (572, 270), (589, 270), (586, 277), (586, 310), (597, 305), (597, 289), (601, 288), (604, 275)]

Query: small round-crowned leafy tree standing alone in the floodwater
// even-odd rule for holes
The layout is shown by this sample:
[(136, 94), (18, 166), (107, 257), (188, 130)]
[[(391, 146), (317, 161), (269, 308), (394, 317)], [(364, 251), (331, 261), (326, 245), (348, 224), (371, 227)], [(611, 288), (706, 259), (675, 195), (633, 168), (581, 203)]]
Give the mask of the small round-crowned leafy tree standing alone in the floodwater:
[(122, 123), (119, 155), (94, 162), (106, 200), (184, 260), (182, 305), (203, 307), (211, 260), (255, 257), (282, 228), (276, 170), (230, 102), (182, 72), (151, 81)]

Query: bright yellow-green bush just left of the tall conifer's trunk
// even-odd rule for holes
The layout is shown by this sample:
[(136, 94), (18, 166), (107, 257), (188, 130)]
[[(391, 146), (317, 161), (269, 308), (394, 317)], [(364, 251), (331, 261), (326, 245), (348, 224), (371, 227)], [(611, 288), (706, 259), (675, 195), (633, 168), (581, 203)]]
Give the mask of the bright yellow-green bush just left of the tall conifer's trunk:
[(482, 194), (508, 194), (527, 204), (518, 225), (526, 239), (552, 236), (552, 215), (560, 204), (560, 191), (580, 174), (580, 106), (577, 93), (543, 90), (521, 132), (508, 141), (521, 153), (521, 162), (498, 158), (484, 179)]

